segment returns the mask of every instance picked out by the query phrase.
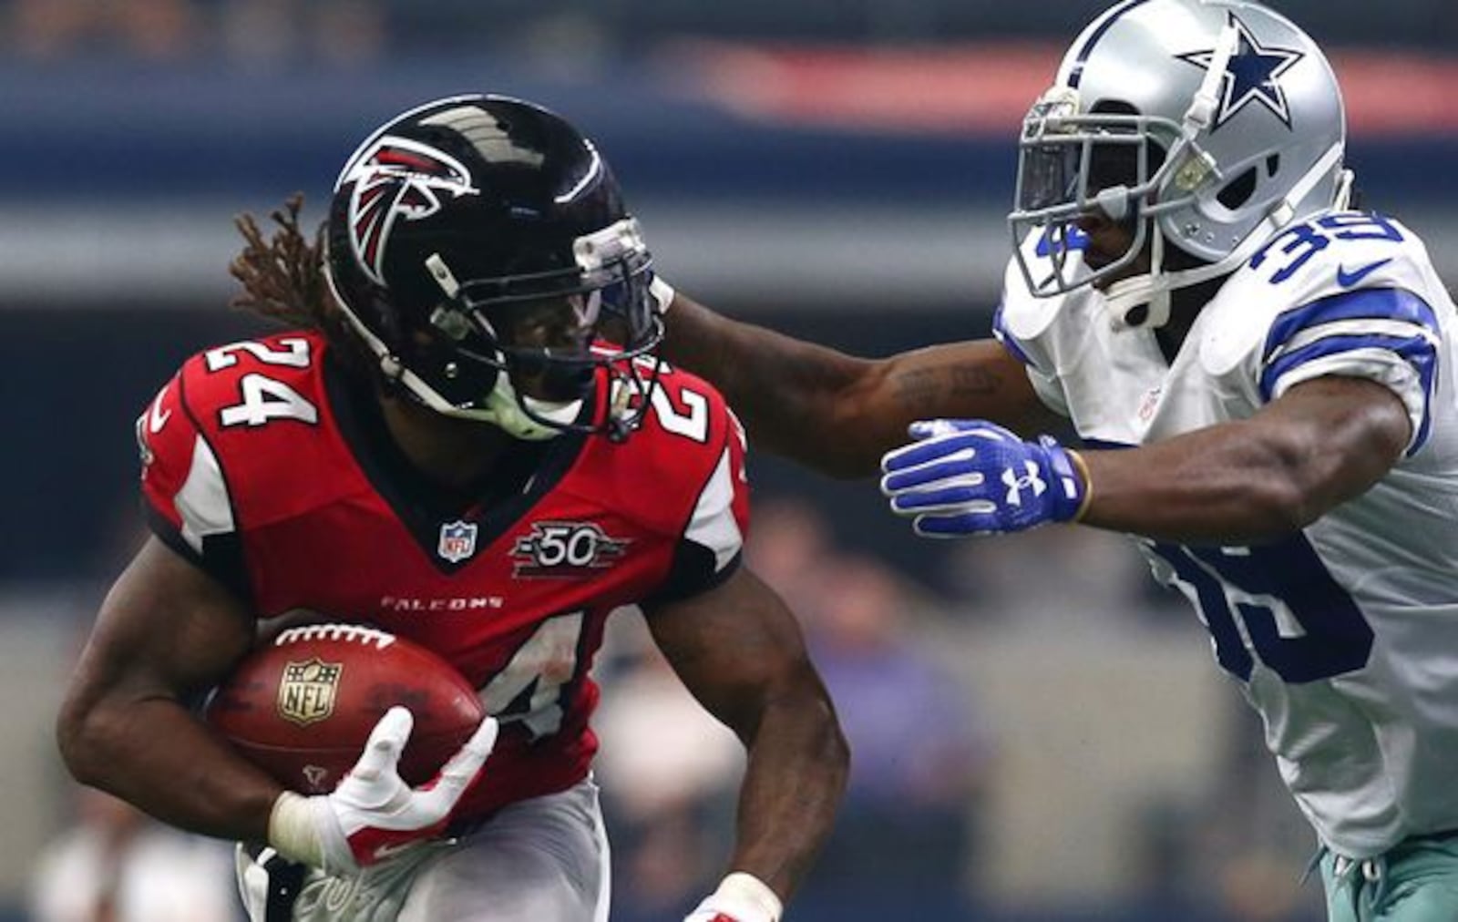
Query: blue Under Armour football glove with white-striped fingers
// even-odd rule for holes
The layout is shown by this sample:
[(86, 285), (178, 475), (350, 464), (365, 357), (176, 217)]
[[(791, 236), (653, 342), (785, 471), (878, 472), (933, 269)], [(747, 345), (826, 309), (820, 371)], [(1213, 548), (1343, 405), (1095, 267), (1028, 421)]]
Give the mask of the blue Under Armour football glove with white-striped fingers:
[(1073, 522), (1088, 500), (1082, 461), (1051, 436), (1025, 442), (984, 420), (911, 423), (920, 439), (881, 460), (891, 511), (913, 518), (919, 535), (1026, 531)]

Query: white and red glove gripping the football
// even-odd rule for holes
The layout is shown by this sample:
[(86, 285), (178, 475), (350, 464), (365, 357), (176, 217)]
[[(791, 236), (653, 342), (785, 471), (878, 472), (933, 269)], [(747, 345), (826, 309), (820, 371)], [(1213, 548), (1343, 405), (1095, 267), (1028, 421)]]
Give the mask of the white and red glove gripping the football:
[(268, 845), (330, 874), (356, 874), (440, 833), (496, 745), (496, 718), (486, 718), (465, 745), (418, 788), (398, 772), (414, 716), (391, 708), (370, 731), (364, 753), (331, 792), (286, 791), (268, 817)]

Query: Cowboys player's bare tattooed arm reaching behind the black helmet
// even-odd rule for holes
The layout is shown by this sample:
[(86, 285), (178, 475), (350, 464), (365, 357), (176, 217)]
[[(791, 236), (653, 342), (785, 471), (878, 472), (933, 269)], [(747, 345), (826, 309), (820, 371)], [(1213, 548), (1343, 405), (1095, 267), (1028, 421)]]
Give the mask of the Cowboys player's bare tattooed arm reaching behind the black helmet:
[(758, 448), (835, 477), (875, 474), (919, 419), (1048, 423), (1022, 365), (996, 340), (857, 359), (729, 319), (678, 293), (663, 356), (712, 381)]

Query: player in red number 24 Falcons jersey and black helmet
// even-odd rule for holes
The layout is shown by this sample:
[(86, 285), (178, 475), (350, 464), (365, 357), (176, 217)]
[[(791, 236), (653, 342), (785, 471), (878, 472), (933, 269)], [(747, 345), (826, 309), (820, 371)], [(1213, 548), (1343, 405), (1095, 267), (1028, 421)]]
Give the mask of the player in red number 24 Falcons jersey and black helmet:
[[(442, 99), (356, 150), (322, 239), (277, 217), (242, 222), (233, 271), (299, 328), (194, 356), (137, 422), (155, 534), (71, 680), (71, 772), (245, 843), (260, 922), (602, 921), (589, 668), (636, 604), (748, 750), (729, 874), (690, 918), (779, 919), (847, 750), (739, 563), (742, 430), (655, 356), (662, 292), (598, 150), (522, 101)], [(395, 709), (335, 791), (280, 789), (191, 706), (295, 610), (426, 645), (493, 718), (421, 788)]]

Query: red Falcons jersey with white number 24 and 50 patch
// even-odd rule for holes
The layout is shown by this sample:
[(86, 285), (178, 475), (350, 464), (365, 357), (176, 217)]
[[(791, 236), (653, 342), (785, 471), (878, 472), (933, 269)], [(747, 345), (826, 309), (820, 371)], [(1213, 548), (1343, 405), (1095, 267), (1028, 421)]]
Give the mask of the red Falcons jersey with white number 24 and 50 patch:
[(191, 357), (137, 432), (153, 530), (260, 617), (376, 624), (477, 686), (502, 737), (464, 817), (586, 776), (608, 613), (717, 585), (748, 524), (742, 430), (681, 371), (627, 441), (523, 442), (525, 486), (475, 503), (432, 495), (313, 333)]

